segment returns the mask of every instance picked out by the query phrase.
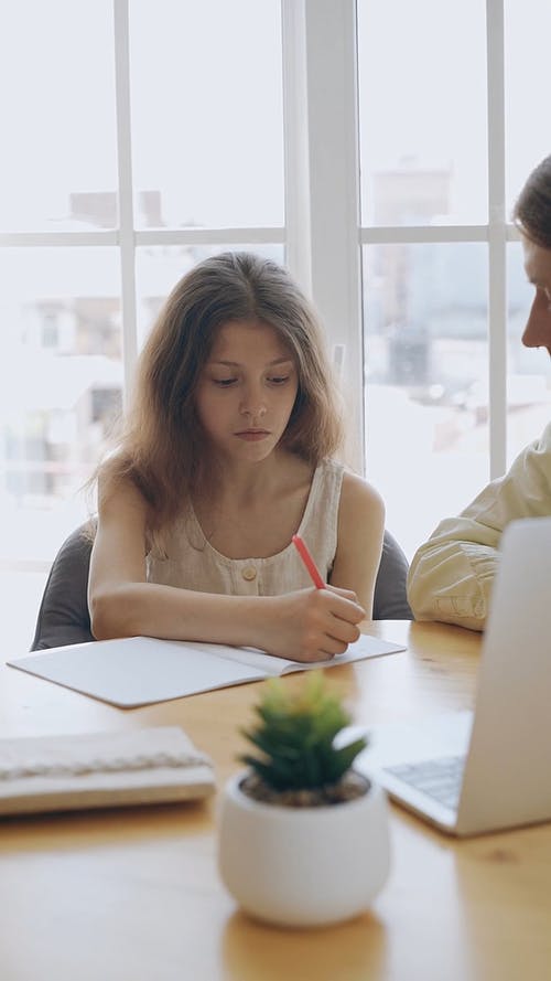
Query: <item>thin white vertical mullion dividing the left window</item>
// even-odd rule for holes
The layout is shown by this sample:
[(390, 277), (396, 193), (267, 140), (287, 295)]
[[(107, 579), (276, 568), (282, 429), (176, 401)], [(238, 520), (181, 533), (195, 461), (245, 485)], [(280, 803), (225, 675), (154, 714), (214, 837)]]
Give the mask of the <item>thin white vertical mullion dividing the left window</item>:
[(122, 359), (127, 401), (138, 356), (128, 0), (114, 0), (114, 15)]

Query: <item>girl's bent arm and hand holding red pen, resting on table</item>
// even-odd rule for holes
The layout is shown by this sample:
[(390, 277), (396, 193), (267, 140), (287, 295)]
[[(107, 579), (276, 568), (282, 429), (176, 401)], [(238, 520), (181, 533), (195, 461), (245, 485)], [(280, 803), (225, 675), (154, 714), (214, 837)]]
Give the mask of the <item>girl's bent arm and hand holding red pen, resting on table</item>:
[(88, 604), (96, 639), (160, 637), (257, 647), (298, 661), (324, 660), (357, 640), (365, 611), (349, 593), (220, 596), (147, 582), (148, 505), (131, 483), (99, 483)]

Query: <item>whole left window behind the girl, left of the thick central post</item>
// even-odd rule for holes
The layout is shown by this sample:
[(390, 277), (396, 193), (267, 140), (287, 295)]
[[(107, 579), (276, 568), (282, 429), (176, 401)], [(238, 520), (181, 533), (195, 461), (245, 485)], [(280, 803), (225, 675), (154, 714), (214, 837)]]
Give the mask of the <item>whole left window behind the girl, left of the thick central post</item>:
[(222, 249), (284, 260), (281, 9), (22, 0), (0, 28), (0, 585), (24, 648), (170, 289)]

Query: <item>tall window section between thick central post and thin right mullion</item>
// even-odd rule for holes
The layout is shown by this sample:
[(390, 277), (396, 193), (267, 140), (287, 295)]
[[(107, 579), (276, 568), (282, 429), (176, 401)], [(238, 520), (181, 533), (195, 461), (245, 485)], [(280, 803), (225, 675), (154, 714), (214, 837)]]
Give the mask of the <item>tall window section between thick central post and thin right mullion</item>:
[(358, 70), (367, 467), (411, 554), (488, 479), (483, 0), (360, 0)]

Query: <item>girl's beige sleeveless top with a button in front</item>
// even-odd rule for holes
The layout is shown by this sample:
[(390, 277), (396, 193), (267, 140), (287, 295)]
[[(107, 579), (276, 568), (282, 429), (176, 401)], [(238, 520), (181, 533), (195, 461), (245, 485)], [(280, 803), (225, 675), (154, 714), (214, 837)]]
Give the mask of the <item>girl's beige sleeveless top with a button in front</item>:
[[(338, 505), (344, 467), (323, 460), (312, 478), (306, 507), (296, 529), (327, 582), (337, 547)], [(193, 508), (175, 522), (166, 552), (147, 557), (148, 582), (199, 593), (279, 596), (312, 586), (293, 543), (268, 558), (227, 558), (209, 544)]]

